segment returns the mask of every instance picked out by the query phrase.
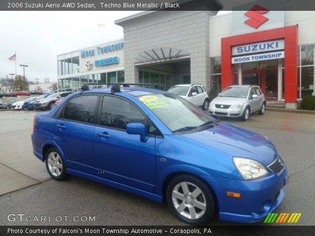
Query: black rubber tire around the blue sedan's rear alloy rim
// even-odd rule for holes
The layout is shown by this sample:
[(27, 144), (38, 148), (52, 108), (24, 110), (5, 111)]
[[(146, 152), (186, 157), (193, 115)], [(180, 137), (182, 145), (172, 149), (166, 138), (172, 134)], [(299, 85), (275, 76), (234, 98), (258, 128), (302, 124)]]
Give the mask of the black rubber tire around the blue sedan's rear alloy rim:
[[(59, 166), (57, 165), (58, 163), (62, 164), (62, 168), (58, 168), (59, 171), (55, 171), (56, 176), (53, 174), (54, 171), (51, 168), (54, 168), (53, 165), (49, 159), (50, 159), (50, 154), (52, 154), (52, 156), (55, 156), (55, 153), (57, 153), (59, 155), (59, 161), (56, 162), (56, 168), (58, 168)], [(45, 156), (45, 165), (46, 165), (46, 169), (48, 171), (48, 174), (50, 175), (50, 177), (52, 177), (55, 180), (65, 180), (68, 177), (70, 177), (70, 175), (68, 175), (66, 173), (66, 169), (65, 169), (65, 162), (64, 162), (64, 158), (62, 156), (62, 154), (60, 153), (60, 151), (57, 148), (50, 148), (47, 152), (46, 152), (46, 156)]]

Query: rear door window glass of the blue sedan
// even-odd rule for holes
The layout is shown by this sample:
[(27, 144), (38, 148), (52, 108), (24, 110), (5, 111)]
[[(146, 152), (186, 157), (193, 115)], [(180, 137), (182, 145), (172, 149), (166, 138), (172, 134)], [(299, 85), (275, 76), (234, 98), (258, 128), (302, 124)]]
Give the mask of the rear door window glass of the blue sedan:
[(98, 95), (81, 95), (71, 98), (64, 107), (63, 118), (86, 123), (95, 122)]

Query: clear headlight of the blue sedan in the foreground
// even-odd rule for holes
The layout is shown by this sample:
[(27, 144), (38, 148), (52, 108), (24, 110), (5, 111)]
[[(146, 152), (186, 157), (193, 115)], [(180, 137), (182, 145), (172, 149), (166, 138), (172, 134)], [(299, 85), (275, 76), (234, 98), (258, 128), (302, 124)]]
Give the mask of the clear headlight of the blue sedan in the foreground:
[(253, 159), (233, 157), (233, 162), (245, 180), (263, 177), (269, 173), (263, 164)]

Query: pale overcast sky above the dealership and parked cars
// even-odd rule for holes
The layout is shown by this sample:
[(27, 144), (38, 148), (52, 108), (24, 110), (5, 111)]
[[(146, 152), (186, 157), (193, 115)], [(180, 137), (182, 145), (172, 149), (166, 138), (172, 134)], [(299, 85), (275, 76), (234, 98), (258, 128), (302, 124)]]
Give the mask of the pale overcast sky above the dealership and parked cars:
[[(17, 74), (30, 81), (57, 81), (57, 55), (124, 37), (114, 20), (139, 11), (2, 11), (0, 14), (0, 78)], [(225, 13), (224, 11), (220, 13)], [(104, 25), (104, 26), (98, 26)], [(9, 75), (10, 77), (10, 75)]]

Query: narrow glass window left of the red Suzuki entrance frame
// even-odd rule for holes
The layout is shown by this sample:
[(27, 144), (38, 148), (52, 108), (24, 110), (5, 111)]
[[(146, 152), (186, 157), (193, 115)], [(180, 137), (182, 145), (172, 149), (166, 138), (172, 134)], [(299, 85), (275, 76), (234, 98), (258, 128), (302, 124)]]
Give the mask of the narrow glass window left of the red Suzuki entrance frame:
[(221, 92), (221, 57), (210, 58), (210, 84), (214, 95)]

